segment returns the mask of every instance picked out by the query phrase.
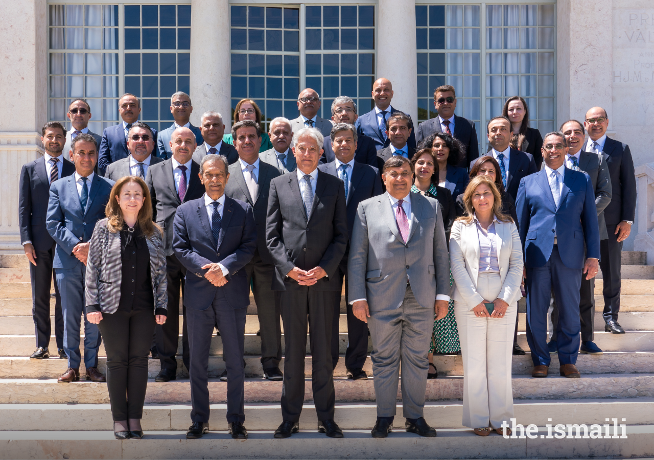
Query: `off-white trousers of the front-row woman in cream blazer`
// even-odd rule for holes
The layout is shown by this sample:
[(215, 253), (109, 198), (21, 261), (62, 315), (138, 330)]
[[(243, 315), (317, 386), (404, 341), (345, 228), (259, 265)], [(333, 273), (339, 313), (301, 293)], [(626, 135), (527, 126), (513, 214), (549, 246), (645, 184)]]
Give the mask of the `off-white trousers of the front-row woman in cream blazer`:
[[(480, 274), (477, 292), (492, 302), (502, 289), (500, 274)], [(511, 357), (517, 302), (504, 317), (476, 317), (474, 305), (455, 302), (463, 357), (463, 421), (469, 428), (500, 428), (513, 417)]]

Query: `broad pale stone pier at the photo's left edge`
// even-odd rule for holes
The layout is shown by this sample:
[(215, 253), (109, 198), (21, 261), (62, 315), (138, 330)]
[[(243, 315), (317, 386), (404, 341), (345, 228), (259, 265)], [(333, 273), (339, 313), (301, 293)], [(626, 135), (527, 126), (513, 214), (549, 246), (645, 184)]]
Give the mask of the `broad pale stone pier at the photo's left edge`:
[(41, 126), (48, 113), (47, 4), (41, 0), (0, 3), (3, 65), (0, 81), (0, 251), (20, 252), (18, 182), (22, 166), (43, 154)]

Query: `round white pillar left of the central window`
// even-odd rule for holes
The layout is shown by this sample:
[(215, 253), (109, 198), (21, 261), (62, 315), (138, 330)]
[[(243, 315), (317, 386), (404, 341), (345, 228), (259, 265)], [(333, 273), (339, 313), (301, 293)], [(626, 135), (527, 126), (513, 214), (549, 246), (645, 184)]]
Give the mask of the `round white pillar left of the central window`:
[(191, 122), (199, 126), (200, 116), (214, 110), (222, 115), (229, 129), (232, 58), (228, 0), (191, 1), (190, 72)]

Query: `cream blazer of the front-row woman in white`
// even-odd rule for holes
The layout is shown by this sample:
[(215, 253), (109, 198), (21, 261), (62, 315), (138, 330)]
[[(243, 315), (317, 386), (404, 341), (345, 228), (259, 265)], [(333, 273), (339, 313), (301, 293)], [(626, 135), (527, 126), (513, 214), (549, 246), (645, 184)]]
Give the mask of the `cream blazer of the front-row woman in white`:
[[(497, 258), (500, 266), (502, 289), (498, 298), (509, 305), (517, 304), (521, 298), (520, 283), (523, 279), (523, 247), (520, 234), (513, 222), (495, 222), (495, 234), (498, 237)], [(456, 221), (452, 226), (450, 238), (450, 264), (454, 277), (454, 300), (464, 302), (473, 308), (484, 300), (477, 292), (477, 275), (479, 275), (479, 234), (475, 221), (466, 224)]]

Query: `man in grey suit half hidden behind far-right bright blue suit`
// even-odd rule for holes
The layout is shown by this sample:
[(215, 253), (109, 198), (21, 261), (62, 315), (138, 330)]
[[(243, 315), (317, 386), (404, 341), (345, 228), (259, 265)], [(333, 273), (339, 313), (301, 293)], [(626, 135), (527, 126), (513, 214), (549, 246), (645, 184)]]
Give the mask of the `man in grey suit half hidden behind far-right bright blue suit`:
[[(595, 207), (597, 208), (597, 220), (600, 226), (600, 240), (608, 239), (606, 222), (604, 221), (604, 208), (611, 202), (611, 175), (606, 164), (606, 158), (604, 158), (603, 154), (581, 150), (585, 135), (585, 129), (581, 122), (568, 120), (561, 125), (559, 131), (563, 133), (566, 141), (568, 141), (566, 168), (583, 171), (591, 177), (591, 183), (593, 183), (593, 189), (595, 190)], [(586, 279), (585, 276), (582, 276), (581, 287), (579, 288), (579, 317), (581, 318), (581, 347), (579, 347), (579, 353), (600, 355), (602, 350), (593, 342), (595, 325), (594, 291), (595, 279)], [(559, 309), (557, 308), (556, 301), (553, 303), (551, 318), (552, 337), (548, 347), (551, 347), (551, 350), (556, 350), (557, 323), (559, 322)]]

